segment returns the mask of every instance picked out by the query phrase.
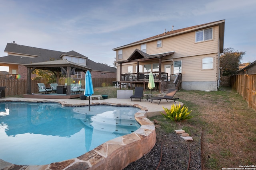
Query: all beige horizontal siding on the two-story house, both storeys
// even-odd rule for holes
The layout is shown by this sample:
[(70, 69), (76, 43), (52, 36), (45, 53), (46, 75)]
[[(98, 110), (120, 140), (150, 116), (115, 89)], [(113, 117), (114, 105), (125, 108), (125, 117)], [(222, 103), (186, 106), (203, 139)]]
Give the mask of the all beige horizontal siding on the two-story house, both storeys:
[[(219, 33), (218, 26), (213, 27), (213, 39), (209, 41), (202, 41), (200, 43), (195, 43), (195, 31), (177, 35), (174, 37), (168, 37), (162, 39), (162, 47), (157, 48), (157, 41), (148, 42), (147, 52), (149, 55), (165, 53), (170, 51), (175, 51), (171, 56), (166, 56), (162, 58), (173, 59), (174, 61), (182, 61), (182, 81), (184, 82), (200, 82), (200, 81), (217, 81), (218, 75), (218, 61), (217, 56), (220, 53), (219, 49)], [(143, 44), (143, 43), (142, 43)], [(127, 47), (123, 49), (123, 59), (126, 60), (135, 49), (140, 49), (140, 45), (135, 45), (132, 47)], [(202, 70), (202, 59), (204, 57), (213, 57), (214, 58), (214, 68), (211, 70)], [(117, 51), (117, 61), (118, 60), (118, 51)], [(158, 63), (156, 61), (150, 61), (150, 63)], [(129, 63), (131, 64), (131, 63)], [(128, 65), (122, 64), (122, 73), (128, 73)], [(140, 65), (146, 63), (140, 62)], [(162, 62), (162, 69), (164, 71), (164, 64), (172, 64), (172, 61)], [(132, 63), (133, 70), (135, 72), (135, 66), (137, 63)], [(117, 79), (120, 78), (120, 68), (117, 68)], [(173, 66), (172, 70), (173, 72)]]

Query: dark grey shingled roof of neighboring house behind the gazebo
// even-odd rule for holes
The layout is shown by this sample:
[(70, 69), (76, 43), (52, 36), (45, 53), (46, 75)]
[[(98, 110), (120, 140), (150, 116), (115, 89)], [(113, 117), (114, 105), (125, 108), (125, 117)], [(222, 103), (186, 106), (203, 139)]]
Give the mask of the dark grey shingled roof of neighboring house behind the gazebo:
[(95, 63), (88, 59), (88, 57), (77, 53), (76, 51), (62, 52), (48, 49), (41, 49), (36, 47), (29, 47), (25, 45), (18, 45), (16, 43), (7, 43), (4, 50), (6, 53), (12, 55), (0, 57), (0, 63), (4, 64), (30, 64), (47, 61), (62, 60), (63, 56), (80, 57), (86, 59), (86, 66), (92, 70), (116, 72), (115, 67), (107, 66), (106, 64)]

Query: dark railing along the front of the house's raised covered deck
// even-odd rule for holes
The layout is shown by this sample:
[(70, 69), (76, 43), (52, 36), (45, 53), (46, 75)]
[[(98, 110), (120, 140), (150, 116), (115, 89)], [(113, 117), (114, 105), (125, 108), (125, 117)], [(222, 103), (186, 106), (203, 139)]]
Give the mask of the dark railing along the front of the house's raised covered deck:
[[(148, 80), (150, 72), (121, 74), (121, 81), (143, 81)], [(168, 80), (166, 72), (152, 72), (154, 80)]]

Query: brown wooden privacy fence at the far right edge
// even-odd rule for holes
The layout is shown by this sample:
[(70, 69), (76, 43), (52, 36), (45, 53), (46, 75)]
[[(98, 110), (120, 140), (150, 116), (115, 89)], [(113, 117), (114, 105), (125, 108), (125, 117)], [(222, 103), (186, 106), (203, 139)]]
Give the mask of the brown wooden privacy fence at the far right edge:
[(256, 74), (238, 74), (230, 77), (231, 86), (256, 111)]

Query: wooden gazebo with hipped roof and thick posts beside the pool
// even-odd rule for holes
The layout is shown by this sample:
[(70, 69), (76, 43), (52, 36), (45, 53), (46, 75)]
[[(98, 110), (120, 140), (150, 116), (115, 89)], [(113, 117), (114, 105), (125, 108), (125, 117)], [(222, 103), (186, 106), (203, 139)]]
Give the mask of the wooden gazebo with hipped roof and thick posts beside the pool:
[[(71, 74), (72, 72), (86, 72), (86, 70), (91, 71), (91, 68), (86, 66), (82, 66), (80, 64), (73, 63), (68, 60), (54, 60), (54, 61), (46, 61), (40, 63), (31, 63), (24, 64), (27, 67), (27, 94), (31, 94), (31, 73), (35, 69), (41, 70), (50, 70), (56, 74), (57, 83), (59, 84), (59, 75), (61, 72), (64, 72), (67, 75), (67, 95), (71, 94), (70, 83), (71, 83)], [(55, 73), (56, 72), (56, 73)]]

